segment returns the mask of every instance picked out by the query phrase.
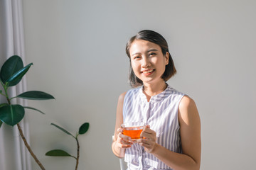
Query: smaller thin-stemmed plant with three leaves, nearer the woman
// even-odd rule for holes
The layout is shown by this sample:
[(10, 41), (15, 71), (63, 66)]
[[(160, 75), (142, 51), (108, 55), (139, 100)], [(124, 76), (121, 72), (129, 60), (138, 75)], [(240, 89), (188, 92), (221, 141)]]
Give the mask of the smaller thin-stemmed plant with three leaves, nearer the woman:
[(78, 169), (78, 163), (79, 163), (79, 157), (80, 157), (80, 145), (78, 142), (78, 135), (82, 135), (85, 134), (85, 132), (87, 132), (87, 130), (89, 129), (89, 123), (83, 123), (80, 128), (79, 131), (76, 133), (76, 135), (72, 135), (70, 132), (68, 132), (68, 130), (65, 130), (64, 128), (61, 128), (58, 125), (55, 125), (54, 123), (51, 123), (50, 125), (54, 125), (56, 128), (62, 130), (63, 132), (65, 132), (66, 134), (72, 136), (75, 138), (75, 141), (77, 143), (78, 149), (77, 149), (77, 157), (72, 156), (71, 154), (68, 154), (68, 152), (65, 152), (62, 149), (53, 149), (50, 150), (46, 153), (46, 156), (52, 156), (52, 157), (73, 157), (76, 159), (76, 164), (75, 164), (75, 170)]

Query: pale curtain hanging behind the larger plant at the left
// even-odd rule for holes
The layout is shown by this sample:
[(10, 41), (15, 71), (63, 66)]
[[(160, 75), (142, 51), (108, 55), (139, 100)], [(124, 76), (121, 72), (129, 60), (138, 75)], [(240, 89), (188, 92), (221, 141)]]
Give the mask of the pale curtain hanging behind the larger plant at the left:
[[(22, 0), (0, 0), (0, 65), (12, 55), (24, 58)], [(16, 96), (26, 91), (26, 77), (10, 88), (10, 96)], [(5, 98), (1, 96), (0, 102)], [(26, 101), (13, 101), (26, 106)], [(20, 123), (26, 139), (29, 142), (28, 123), (26, 117)], [(0, 169), (1, 170), (31, 170), (31, 156), (28, 153), (15, 125), (3, 125), (0, 128)]]

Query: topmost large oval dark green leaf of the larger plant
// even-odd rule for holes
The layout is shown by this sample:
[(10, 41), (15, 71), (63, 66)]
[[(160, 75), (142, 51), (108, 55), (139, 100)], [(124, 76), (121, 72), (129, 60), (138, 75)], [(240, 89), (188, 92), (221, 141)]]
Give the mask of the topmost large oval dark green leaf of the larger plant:
[[(0, 71), (0, 78), (1, 81), (5, 84), (6, 81), (12, 77), (18, 70), (23, 68), (23, 62), (21, 57), (18, 57), (18, 55), (14, 55), (12, 57), (9, 57), (6, 62), (4, 62), (3, 66), (1, 67)], [(19, 83), (21, 79), (17, 79), (16, 81), (13, 81), (9, 84), (9, 86), (15, 86)]]

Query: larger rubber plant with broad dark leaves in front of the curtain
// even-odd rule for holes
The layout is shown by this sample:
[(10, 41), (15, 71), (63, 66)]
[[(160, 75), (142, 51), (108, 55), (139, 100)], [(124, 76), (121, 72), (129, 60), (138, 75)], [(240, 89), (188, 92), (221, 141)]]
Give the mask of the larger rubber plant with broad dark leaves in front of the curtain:
[(39, 111), (36, 108), (13, 104), (11, 103), (11, 101), (14, 98), (23, 98), (29, 100), (48, 100), (54, 99), (54, 97), (50, 94), (46, 94), (43, 91), (26, 91), (22, 94), (18, 94), (18, 96), (9, 96), (9, 87), (16, 86), (21, 81), (26, 72), (28, 72), (28, 69), (31, 67), (32, 64), (33, 63), (30, 63), (23, 67), (23, 61), (21, 57), (19, 57), (18, 55), (14, 55), (6, 60), (6, 62), (4, 62), (3, 66), (1, 67), (0, 81), (4, 91), (0, 90), (0, 94), (6, 98), (6, 103), (0, 103), (0, 128), (3, 123), (5, 123), (6, 125), (11, 125), (13, 127), (14, 125), (17, 125), (18, 131), (21, 135), (24, 145), (28, 149), (28, 152), (30, 152), (31, 156), (33, 157), (33, 159), (35, 159), (38, 166), (40, 166), (41, 169), (45, 170), (41, 162), (39, 162), (39, 160), (37, 159), (36, 155), (32, 152), (31, 147), (28, 145), (28, 142), (23, 135), (21, 126), (19, 125), (19, 122), (23, 119), (25, 115), (25, 109), (31, 109), (40, 113), (43, 112)]

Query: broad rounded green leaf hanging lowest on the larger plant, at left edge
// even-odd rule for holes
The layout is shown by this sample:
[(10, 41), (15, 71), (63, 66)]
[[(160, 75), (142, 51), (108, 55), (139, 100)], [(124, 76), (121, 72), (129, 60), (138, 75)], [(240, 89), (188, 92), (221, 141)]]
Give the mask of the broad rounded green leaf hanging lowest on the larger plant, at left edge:
[(24, 117), (25, 111), (21, 105), (8, 105), (0, 108), (0, 120), (14, 126)]

